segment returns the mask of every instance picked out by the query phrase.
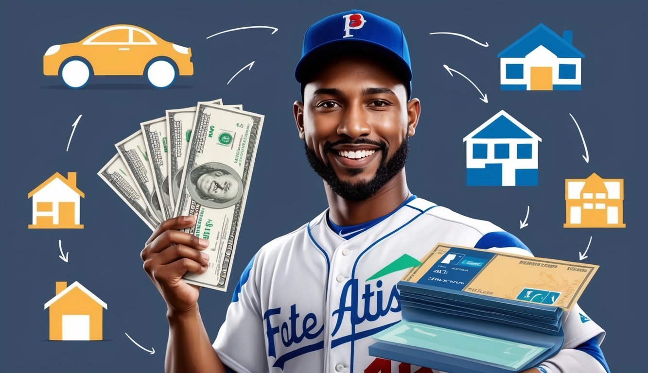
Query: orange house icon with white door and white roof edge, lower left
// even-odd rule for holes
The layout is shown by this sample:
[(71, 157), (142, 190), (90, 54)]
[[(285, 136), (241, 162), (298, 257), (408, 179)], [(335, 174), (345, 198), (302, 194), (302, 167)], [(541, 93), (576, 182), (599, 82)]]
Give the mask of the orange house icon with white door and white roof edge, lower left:
[(108, 305), (77, 281), (56, 282), (56, 296), (45, 303), (49, 308), (50, 341), (101, 341), (103, 310)]

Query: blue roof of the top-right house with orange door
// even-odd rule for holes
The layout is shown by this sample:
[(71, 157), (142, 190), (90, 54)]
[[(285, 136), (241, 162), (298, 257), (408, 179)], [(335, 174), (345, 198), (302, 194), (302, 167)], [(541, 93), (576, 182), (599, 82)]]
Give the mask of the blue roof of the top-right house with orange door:
[(523, 58), (542, 45), (559, 58), (584, 58), (583, 52), (573, 47), (571, 41), (566, 41), (561, 36), (540, 23), (522, 38), (509, 45), (498, 58)]

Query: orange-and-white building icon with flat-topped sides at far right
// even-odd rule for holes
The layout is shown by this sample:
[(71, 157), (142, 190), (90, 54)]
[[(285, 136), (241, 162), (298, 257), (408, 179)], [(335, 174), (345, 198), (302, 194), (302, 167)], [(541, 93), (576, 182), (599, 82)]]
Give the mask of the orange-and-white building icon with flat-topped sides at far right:
[(625, 228), (623, 179), (566, 179), (565, 214), (565, 228)]

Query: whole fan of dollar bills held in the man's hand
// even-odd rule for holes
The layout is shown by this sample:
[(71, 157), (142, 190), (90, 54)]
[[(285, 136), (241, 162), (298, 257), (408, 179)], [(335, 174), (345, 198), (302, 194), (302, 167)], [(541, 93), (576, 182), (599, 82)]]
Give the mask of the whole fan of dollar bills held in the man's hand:
[(191, 284), (226, 291), (252, 176), (263, 115), (222, 100), (167, 110), (115, 144), (98, 172), (150, 229), (180, 215), (209, 240), (209, 267)]

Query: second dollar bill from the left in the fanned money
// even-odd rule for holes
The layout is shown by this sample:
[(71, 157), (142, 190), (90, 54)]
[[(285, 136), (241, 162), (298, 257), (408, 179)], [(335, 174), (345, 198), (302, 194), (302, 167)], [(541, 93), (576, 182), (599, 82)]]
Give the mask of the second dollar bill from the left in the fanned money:
[(148, 154), (146, 153), (146, 144), (144, 135), (139, 130), (126, 139), (115, 144), (119, 156), (122, 157), (128, 173), (135, 180), (137, 192), (144, 198), (146, 206), (153, 211), (157, 220), (165, 220), (162, 214), (161, 201), (157, 196), (153, 179), (155, 175), (151, 172), (151, 165), (148, 163)]

